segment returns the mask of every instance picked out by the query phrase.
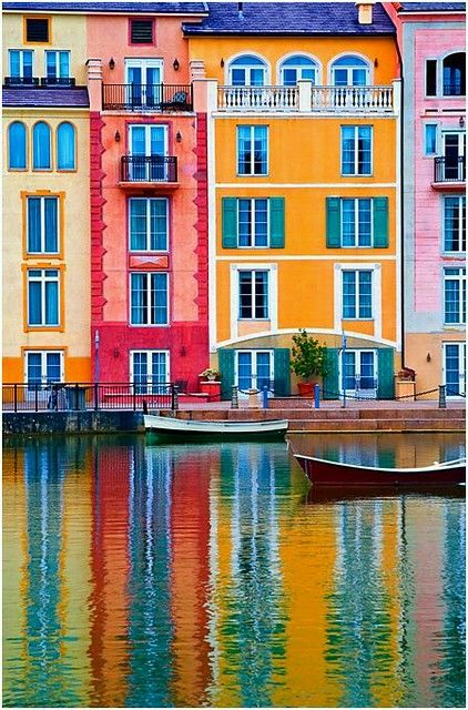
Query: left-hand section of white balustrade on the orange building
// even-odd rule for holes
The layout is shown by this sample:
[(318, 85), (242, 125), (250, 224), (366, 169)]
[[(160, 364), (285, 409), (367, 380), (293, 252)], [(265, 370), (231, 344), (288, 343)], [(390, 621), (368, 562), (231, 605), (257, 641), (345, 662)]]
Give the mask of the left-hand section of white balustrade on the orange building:
[(220, 87), (220, 111), (297, 111), (297, 87)]

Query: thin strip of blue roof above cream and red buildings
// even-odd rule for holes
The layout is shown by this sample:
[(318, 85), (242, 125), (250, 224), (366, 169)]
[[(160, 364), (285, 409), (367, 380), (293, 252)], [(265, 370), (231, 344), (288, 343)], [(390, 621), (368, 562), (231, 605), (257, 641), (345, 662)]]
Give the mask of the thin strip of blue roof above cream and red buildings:
[(3, 2), (3, 10), (19, 12), (143, 12), (157, 14), (206, 14), (205, 2)]

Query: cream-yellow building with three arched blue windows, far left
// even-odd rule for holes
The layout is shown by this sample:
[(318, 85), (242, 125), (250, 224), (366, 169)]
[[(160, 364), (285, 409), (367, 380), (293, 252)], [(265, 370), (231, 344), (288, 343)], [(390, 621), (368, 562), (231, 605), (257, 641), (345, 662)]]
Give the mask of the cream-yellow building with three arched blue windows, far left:
[(3, 11), (3, 382), (89, 382), (87, 18)]

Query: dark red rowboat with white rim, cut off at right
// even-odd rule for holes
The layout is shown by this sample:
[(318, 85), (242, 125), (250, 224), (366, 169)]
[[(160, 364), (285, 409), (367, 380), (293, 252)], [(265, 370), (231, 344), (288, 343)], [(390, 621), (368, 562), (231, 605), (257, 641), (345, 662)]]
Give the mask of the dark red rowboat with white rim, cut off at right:
[(330, 462), (295, 453), (294, 456), (312, 483), (319, 486), (447, 485), (464, 483), (466, 475), (465, 459), (424, 468), (380, 468)]

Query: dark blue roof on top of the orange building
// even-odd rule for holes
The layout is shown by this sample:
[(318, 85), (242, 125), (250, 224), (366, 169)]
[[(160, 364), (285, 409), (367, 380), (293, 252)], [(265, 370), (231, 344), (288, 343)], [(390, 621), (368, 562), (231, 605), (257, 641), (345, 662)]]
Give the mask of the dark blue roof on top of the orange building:
[(395, 34), (378, 2), (372, 24), (359, 24), (354, 2), (208, 2), (208, 17), (185, 22), (185, 34)]

